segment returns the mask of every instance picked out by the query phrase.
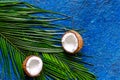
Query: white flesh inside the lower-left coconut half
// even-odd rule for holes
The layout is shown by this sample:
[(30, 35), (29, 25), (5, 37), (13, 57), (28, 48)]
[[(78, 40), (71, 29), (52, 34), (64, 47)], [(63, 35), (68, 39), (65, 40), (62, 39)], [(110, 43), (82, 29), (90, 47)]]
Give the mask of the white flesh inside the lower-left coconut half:
[(26, 70), (31, 76), (39, 75), (42, 71), (43, 62), (37, 56), (32, 56), (28, 59), (26, 63)]

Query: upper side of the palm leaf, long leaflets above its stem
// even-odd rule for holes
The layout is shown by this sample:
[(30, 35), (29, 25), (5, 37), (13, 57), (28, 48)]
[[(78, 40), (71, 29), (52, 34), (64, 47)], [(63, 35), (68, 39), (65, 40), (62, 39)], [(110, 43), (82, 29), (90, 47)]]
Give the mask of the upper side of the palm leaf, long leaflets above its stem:
[[(54, 12), (52, 13), (50, 11), (45, 11), (38, 8), (31, 8), (31, 7), (23, 8), (19, 6), (16, 7), (16, 5), (21, 6), (23, 4), (26, 6), (26, 3), (23, 3), (23, 2), (9, 2), (7, 4), (5, 4), (4, 2), (1, 2), (0, 4), (2, 4), (0, 6), (3, 7), (0, 10), (1, 12), (0, 13), (0, 16), (1, 16), (0, 32), (1, 33), (0, 34), (1, 36), (5, 37), (9, 42), (14, 42), (12, 43), (14, 46), (17, 46), (24, 50), (31, 50), (31, 51), (37, 51), (37, 52), (62, 52), (63, 51), (60, 46), (55, 45), (60, 43), (59, 38), (53, 37), (54, 35), (55, 36), (58, 35), (57, 31), (44, 30), (44, 28), (53, 29), (57, 27), (58, 25), (53, 25), (50, 22), (54, 20), (63, 19), (63, 18), (51, 19), (48, 17), (47, 19), (46, 18), (38, 19), (39, 17), (35, 17), (31, 15), (36, 13), (41, 13), (41, 14), (42, 13), (57, 14), (57, 13), (54, 13)], [(8, 5), (9, 7), (7, 7)], [(31, 26), (39, 26), (40, 29), (36, 29)], [(62, 28), (60, 28), (60, 30), (63, 31)]]

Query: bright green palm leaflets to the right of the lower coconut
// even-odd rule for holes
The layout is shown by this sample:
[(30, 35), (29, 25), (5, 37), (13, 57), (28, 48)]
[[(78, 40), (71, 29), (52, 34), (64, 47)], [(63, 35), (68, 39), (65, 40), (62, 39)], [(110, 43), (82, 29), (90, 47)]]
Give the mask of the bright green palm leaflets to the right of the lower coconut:
[(59, 53), (59, 55), (43, 54), (45, 73), (48, 76), (55, 80), (95, 80), (95, 76), (89, 73), (82, 64), (71, 61), (64, 56), (63, 53)]

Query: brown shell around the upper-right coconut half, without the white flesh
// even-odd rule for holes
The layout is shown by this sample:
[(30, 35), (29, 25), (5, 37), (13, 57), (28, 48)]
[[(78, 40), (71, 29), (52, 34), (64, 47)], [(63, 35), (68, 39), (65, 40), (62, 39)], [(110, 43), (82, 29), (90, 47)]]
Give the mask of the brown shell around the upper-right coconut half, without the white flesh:
[[(62, 47), (63, 47), (63, 49), (64, 49), (66, 52), (71, 53), (71, 54), (76, 54), (76, 53), (78, 53), (78, 52), (81, 50), (81, 48), (83, 47), (83, 39), (82, 39), (82, 36), (81, 36), (78, 32), (76, 32), (76, 31), (74, 31), (74, 30), (67, 31), (64, 35), (66, 35), (67, 33), (73, 33), (73, 34), (75, 34), (75, 36), (76, 36), (76, 38), (77, 38), (77, 40), (78, 40), (78, 48), (77, 48), (73, 53), (71, 53), (71, 52), (65, 50), (65, 48), (64, 48), (63, 46), (62, 46)], [(64, 37), (64, 35), (63, 35), (63, 37)], [(62, 37), (62, 38), (63, 38), (63, 37)]]

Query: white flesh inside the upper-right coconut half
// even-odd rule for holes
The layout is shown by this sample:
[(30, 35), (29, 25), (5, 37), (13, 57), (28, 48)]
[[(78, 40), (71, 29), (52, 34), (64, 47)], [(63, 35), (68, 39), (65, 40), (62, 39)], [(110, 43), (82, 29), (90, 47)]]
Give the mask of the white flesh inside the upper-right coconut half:
[(63, 48), (70, 53), (74, 53), (78, 48), (78, 39), (74, 33), (66, 33), (62, 38)]

